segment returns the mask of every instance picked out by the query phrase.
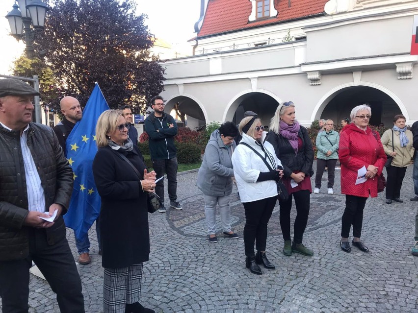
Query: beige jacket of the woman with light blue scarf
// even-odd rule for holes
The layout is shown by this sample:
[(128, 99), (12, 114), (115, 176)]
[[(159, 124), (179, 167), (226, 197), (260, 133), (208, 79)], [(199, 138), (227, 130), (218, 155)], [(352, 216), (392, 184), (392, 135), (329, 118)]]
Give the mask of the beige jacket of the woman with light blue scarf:
[[(401, 147), (399, 140), (399, 132), (393, 131), (393, 148), (395, 149), (396, 156), (392, 160), (392, 166), (397, 168), (404, 168), (411, 164), (411, 158), (414, 155), (414, 147), (412, 146), (413, 135), (412, 131), (406, 130), (405, 135), (409, 140), (409, 143)], [(385, 149), (386, 155), (390, 155), (392, 152), (392, 129), (385, 131), (381, 138), (383, 148)]]

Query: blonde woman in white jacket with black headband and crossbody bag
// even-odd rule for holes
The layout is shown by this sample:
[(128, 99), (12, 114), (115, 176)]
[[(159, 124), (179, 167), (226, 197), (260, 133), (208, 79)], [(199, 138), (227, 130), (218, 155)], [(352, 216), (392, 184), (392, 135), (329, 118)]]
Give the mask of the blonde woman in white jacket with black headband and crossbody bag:
[[(267, 132), (263, 132), (260, 119), (244, 118), (238, 128), (242, 140), (232, 155), (232, 163), (245, 209), (245, 265), (252, 273), (261, 275), (258, 264), (275, 268), (265, 256), (265, 247), (267, 223), (277, 200), (276, 181), (283, 176), (283, 167), (273, 146), (265, 141)], [(257, 254), (254, 254), (254, 242)]]

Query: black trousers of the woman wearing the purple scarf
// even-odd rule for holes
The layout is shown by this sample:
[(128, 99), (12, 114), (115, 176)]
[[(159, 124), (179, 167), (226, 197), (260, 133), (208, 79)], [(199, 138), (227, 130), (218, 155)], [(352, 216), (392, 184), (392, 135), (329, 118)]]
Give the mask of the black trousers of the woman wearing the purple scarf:
[(290, 210), (292, 208), (292, 197), (296, 204), (296, 218), (293, 226), (293, 241), (295, 243), (302, 243), (303, 233), (308, 224), (309, 208), (311, 193), (309, 190), (300, 190), (289, 195), (287, 201), (279, 201), (280, 203), (280, 227), (282, 228), (283, 239), (285, 241), (290, 238)]

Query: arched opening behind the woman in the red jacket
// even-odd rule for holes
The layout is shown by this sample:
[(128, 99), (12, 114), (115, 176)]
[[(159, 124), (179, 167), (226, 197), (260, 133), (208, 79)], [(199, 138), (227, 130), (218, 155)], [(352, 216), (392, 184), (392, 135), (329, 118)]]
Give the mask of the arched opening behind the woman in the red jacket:
[(371, 107), (370, 125), (384, 123), (387, 127), (391, 126), (393, 117), (402, 114), (396, 101), (383, 91), (368, 86), (350, 86), (329, 96), (317, 110), (314, 119), (331, 119), (334, 123), (340, 123), (342, 119), (350, 118), (352, 108), (363, 103)]

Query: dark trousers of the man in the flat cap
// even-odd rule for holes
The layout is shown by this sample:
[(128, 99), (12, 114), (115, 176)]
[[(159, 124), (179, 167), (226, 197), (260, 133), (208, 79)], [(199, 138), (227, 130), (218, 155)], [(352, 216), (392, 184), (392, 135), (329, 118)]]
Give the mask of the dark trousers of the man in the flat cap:
[(29, 256), (0, 262), (0, 296), (3, 313), (27, 313), (29, 268), (32, 260), (56, 293), (61, 313), (84, 313), (81, 280), (68, 241), (48, 245), (45, 229), (29, 228)]

